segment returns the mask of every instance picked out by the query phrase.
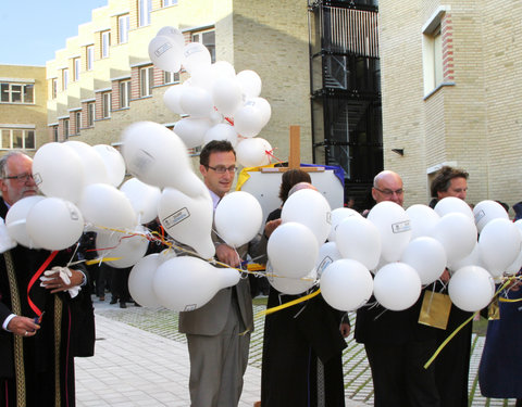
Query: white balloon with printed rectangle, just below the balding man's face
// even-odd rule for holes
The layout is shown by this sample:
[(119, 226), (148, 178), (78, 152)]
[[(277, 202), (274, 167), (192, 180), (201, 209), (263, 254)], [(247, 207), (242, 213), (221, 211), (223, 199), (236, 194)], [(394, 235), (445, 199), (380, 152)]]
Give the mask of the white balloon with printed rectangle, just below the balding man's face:
[(381, 234), (381, 256), (386, 262), (397, 262), (411, 238), (410, 218), (406, 211), (395, 202), (380, 202), (368, 214), (368, 220), (377, 227)]

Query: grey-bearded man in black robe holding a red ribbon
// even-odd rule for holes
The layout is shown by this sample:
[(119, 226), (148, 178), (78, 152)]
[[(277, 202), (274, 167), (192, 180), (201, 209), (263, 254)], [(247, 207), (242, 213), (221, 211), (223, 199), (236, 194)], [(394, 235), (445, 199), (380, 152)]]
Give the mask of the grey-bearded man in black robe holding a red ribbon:
[[(37, 193), (32, 163), (20, 152), (0, 158), (3, 219), (11, 205)], [(39, 272), (66, 265), (73, 251), (5, 249), (0, 259), (0, 406), (74, 406), (74, 356), (91, 356), (95, 343), (85, 269), (66, 268), (69, 281), (54, 274), (40, 285)]]

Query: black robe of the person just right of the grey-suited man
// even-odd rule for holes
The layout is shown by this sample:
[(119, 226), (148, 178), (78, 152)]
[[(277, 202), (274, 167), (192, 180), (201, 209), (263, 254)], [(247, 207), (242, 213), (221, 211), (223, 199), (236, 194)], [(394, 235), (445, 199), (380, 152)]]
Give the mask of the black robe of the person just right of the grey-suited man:
[[(274, 211), (268, 220), (276, 219)], [(275, 216), (275, 217), (274, 217)], [(300, 295), (283, 295), (283, 303)], [(270, 288), (268, 307), (279, 305)], [(261, 406), (345, 406), (343, 349), (339, 327), (344, 313), (318, 295), (270, 314), (264, 322)], [(322, 389), (324, 386), (324, 389)]]

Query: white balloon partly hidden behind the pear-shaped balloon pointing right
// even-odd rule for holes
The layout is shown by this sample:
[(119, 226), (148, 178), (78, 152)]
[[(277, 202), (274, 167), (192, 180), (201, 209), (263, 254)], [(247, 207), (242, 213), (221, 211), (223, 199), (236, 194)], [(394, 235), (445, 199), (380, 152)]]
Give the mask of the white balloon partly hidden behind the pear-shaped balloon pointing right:
[(141, 257), (128, 275), (128, 292), (134, 301), (144, 307), (160, 307), (161, 304), (152, 289), (158, 267), (163, 263), (159, 253)]

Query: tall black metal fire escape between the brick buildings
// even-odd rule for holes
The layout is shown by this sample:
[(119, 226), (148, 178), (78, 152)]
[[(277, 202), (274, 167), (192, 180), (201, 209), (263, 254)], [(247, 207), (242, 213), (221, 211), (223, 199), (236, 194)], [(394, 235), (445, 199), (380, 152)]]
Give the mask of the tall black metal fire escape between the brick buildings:
[(313, 162), (360, 205), (383, 169), (377, 0), (309, 0)]

